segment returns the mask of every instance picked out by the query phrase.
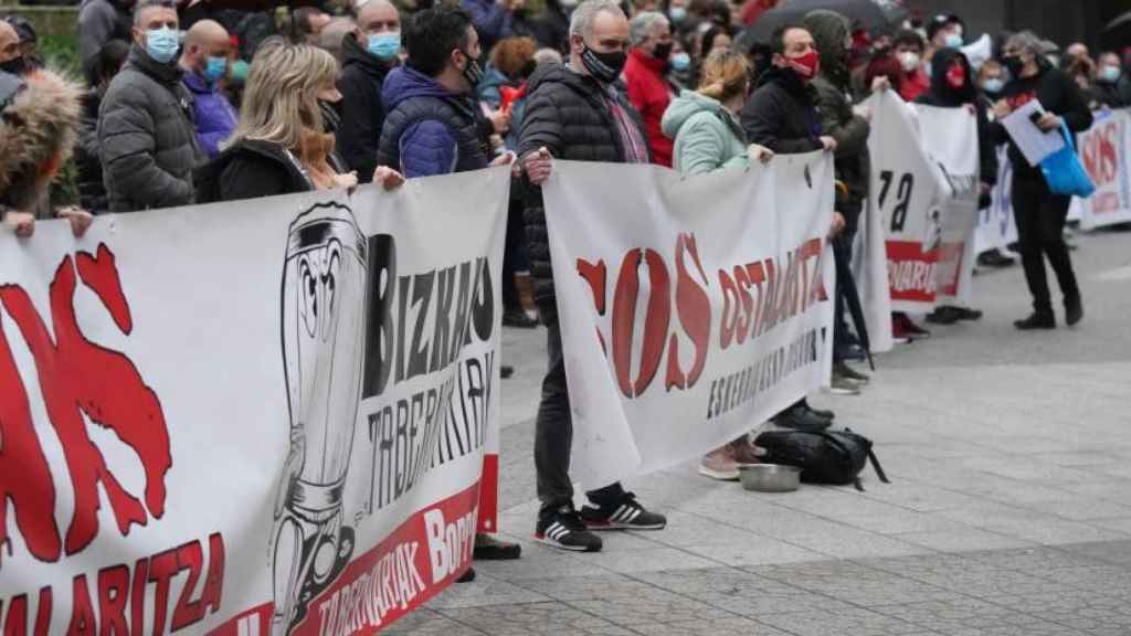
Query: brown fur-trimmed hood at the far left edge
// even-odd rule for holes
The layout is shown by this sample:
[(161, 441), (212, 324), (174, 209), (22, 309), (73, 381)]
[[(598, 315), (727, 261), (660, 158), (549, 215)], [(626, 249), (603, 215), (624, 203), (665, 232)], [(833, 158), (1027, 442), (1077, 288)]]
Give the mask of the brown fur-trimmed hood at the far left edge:
[(70, 157), (83, 97), (78, 84), (46, 69), (23, 79), (27, 87), (0, 113), (0, 203), (17, 209), (34, 206), (44, 170)]

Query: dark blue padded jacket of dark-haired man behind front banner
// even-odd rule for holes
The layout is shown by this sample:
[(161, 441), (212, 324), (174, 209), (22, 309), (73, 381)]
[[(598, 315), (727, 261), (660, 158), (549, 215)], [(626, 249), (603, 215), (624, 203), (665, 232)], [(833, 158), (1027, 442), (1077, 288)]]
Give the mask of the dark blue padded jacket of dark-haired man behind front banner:
[(388, 114), (378, 165), (406, 178), (486, 167), (490, 122), (469, 95), (457, 95), (408, 67), (389, 71), (381, 89)]

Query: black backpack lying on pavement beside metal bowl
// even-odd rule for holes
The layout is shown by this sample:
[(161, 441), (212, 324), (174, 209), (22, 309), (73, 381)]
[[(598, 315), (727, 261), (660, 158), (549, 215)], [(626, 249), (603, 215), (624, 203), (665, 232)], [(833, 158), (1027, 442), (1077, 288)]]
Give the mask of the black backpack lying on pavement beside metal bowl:
[(872, 440), (849, 429), (843, 431), (808, 432), (795, 430), (766, 431), (758, 436), (754, 446), (766, 450), (761, 461), (801, 469), (801, 481), (806, 483), (853, 484), (863, 491), (860, 472), (871, 462), (883, 483), (891, 483), (872, 452)]

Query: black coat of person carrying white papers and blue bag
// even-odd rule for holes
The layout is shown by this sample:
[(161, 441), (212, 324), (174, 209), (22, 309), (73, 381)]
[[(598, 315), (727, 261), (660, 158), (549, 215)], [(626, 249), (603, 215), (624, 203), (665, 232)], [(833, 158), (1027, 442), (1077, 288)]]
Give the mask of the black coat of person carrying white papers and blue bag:
[[(1070, 132), (1083, 132), (1091, 128), (1091, 110), (1077, 83), (1047, 62), (1038, 63), (1041, 70), (1037, 75), (1015, 77), (1005, 85), (1003, 93), (1005, 101), (1016, 110), (1033, 100), (1039, 100), (1046, 111), (1064, 119)], [(990, 124), (990, 130), (996, 143), (1009, 141), (1009, 161), (1013, 164), (1013, 179), (1044, 179), (1041, 166), (1029, 165), (1001, 122)]]

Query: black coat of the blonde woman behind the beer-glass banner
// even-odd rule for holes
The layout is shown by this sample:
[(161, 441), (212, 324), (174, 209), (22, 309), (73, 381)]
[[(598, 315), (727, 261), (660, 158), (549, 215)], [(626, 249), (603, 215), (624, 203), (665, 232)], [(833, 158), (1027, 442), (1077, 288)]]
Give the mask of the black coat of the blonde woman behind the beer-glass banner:
[(299, 158), (270, 141), (243, 140), (234, 144), (197, 171), (196, 179), (197, 203), (201, 204), (314, 189)]

